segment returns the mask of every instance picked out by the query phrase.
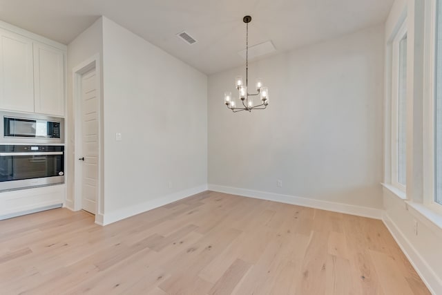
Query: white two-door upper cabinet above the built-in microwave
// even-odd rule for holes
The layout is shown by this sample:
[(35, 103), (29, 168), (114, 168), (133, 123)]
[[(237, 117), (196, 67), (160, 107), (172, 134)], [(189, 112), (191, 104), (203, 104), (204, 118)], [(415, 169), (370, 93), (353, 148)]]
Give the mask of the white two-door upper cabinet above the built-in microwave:
[(64, 117), (66, 46), (0, 21), (0, 109)]

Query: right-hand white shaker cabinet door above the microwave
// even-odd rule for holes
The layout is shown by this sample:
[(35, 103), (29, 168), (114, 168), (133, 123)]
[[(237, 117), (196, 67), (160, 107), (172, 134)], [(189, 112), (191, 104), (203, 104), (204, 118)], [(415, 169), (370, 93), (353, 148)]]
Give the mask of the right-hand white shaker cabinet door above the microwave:
[(35, 113), (64, 115), (64, 52), (34, 42)]

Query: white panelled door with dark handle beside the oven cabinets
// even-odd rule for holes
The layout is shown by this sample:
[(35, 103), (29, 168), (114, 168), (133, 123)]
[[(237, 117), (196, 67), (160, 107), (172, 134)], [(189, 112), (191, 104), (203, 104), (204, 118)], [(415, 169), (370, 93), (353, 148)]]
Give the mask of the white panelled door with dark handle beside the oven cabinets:
[(98, 97), (95, 68), (81, 78), (81, 207), (95, 214), (98, 195)]

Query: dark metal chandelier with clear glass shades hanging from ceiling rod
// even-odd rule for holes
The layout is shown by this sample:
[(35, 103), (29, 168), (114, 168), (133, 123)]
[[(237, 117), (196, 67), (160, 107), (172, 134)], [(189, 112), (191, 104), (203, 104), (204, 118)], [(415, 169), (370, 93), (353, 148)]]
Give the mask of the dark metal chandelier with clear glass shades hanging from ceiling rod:
[[(251, 16), (246, 15), (242, 21), (246, 24), (246, 84), (244, 85), (242, 82), (241, 76), (237, 76), (235, 79), (235, 86), (236, 89), (238, 89), (242, 106), (236, 106), (235, 99), (233, 99), (231, 92), (224, 93), (224, 104), (226, 104), (227, 108), (230, 108), (233, 113), (263, 110), (269, 105), (269, 88), (262, 86), (261, 79), (256, 80), (256, 93), (249, 93), (249, 22), (251, 22)], [(257, 103), (254, 99), (258, 96), (260, 97), (260, 102)]]

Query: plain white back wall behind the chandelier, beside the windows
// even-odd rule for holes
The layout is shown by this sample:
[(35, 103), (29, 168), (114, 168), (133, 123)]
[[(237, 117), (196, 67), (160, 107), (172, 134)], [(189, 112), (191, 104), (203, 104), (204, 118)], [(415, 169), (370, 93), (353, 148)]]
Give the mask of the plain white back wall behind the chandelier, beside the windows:
[(251, 84), (269, 86), (265, 111), (223, 105), (244, 67), (209, 76), (209, 188), (381, 209), (383, 46), (376, 26), (251, 63)]

